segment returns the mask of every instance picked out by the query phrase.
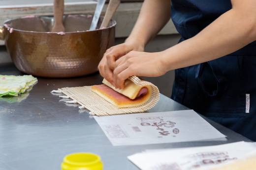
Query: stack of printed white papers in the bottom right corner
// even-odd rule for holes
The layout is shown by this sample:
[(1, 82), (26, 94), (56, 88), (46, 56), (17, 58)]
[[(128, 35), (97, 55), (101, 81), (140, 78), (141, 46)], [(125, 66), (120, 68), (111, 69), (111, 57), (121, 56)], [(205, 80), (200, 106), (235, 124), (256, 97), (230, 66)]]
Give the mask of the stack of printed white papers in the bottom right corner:
[(147, 150), (128, 156), (141, 170), (211, 170), (256, 156), (255, 143)]

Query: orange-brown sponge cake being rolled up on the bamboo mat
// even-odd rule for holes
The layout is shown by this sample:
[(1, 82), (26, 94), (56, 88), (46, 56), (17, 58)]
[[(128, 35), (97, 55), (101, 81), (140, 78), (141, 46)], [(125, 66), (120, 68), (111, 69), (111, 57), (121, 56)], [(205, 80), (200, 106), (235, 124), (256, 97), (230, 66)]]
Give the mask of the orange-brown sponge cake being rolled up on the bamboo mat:
[(92, 91), (118, 108), (136, 107), (146, 103), (152, 95), (152, 87), (139, 86), (127, 79), (124, 89), (116, 89), (106, 79), (104, 84), (92, 86)]

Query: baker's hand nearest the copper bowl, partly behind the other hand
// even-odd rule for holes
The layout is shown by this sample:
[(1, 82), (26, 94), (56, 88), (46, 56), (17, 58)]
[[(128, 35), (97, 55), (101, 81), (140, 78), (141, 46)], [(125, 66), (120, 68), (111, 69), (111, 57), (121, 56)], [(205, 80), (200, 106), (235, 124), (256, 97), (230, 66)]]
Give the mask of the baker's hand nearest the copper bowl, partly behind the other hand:
[(98, 65), (100, 75), (115, 86), (113, 82), (115, 62), (132, 50), (143, 51), (144, 48), (136, 45), (136, 43), (123, 43), (107, 49)]

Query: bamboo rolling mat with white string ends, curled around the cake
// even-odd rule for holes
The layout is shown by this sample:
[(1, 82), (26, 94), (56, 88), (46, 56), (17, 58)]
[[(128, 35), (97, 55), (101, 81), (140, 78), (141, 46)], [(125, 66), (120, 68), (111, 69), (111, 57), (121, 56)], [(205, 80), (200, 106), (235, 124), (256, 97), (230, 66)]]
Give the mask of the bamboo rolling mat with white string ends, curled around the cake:
[[(64, 98), (71, 98), (73, 101), (66, 101), (68, 103), (78, 103), (81, 106), (79, 108), (88, 109), (91, 115), (97, 116), (108, 116), (108, 115), (119, 115), (119, 114), (129, 114), (129, 113), (141, 113), (153, 108), (160, 98), (160, 92), (157, 86), (154, 84), (140, 80), (136, 76), (129, 77), (128, 80), (132, 81), (134, 84), (141, 87), (150, 87), (150, 97), (147, 101), (141, 105), (134, 107), (118, 107), (115, 104), (110, 103), (103, 97), (99, 96), (92, 91), (93, 86), (83, 86), (83, 87), (66, 87), (58, 89), (58, 92), (63, 93), (66, 96)], [(148, 92), (149, 93), (149, 92)]]

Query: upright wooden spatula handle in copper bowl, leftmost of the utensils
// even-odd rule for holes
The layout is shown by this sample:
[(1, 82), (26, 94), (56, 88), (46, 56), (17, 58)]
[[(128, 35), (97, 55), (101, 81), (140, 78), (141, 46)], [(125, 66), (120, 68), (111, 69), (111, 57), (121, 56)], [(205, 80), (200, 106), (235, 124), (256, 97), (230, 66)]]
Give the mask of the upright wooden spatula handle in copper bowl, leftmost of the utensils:
[(64, 0), (54, 0), (54, 25), (52, 32), (65, 32), (63, 25)]

